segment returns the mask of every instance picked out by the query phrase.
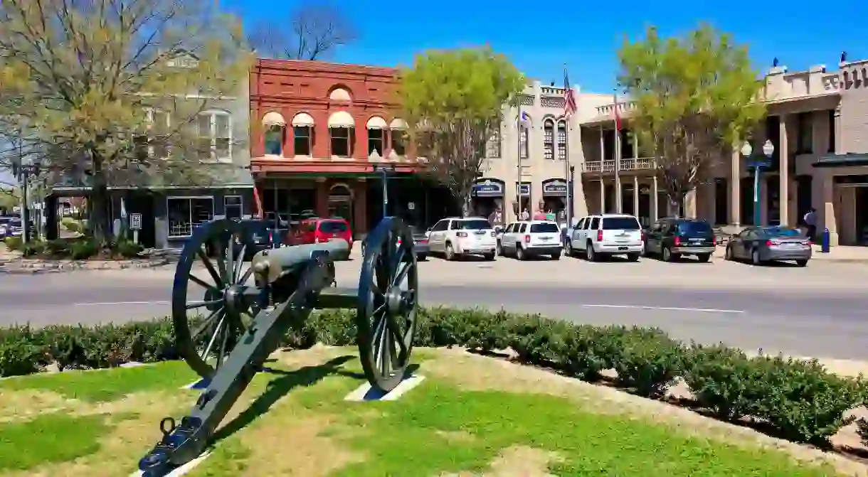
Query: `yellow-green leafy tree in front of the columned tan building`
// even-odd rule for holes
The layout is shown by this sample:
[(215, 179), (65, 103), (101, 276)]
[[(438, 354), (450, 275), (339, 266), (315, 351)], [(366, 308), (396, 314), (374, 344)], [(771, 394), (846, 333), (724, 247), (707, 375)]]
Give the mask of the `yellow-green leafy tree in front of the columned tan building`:
[(654, 156), (669, 200), (707, 179), (765, 116), (763, 82), (747, 48), (707, 25), (683, 38), (625, 40), (618, 52), (619, 83), (635, 101), (630, 117), (643, 154)]

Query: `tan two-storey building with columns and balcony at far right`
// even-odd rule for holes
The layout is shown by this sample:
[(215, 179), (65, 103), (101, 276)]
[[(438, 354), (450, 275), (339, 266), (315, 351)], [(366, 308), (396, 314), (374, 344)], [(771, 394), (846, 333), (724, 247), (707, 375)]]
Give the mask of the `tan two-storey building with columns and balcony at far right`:
[[(762, 225), (799, 225), (813, 207), (818, 229), (829, 229), (832, 245), (868, 245), (866, 69), (868, 61), (859, 61), (841, 62), (834, 72), (818, 66), (799, 72), (778, 67), (768, 73), (768, 116), (750, 140), (754, 157), (763, 154), (766, 140), (774, 145), (771, 165), (759, 179)], [(654, 159), (636, 157), (628, 133), (633, 105), (619, 105), (622, 147), (615, 160), (613, 101), (608, 96), (605, 104), (591, 106), (593, 101), (594, 96), (579, 96), (580, 110), (593, 108), (595, 114), (580, 114), (581, 147), (575, 147), (575, 156), (570, 151), (574, 164), (582, 163), (576, 215), (583, 209), (628, 212), (648, 223), (674, 213), (665, 194), (652, 192), (659, 185)], [(735, 149), (690, 194), (684, 215), (717, 225), (753, 224), (753, 173), (740, 147)], [(618, 196), (621, 200), (615, 200)]]

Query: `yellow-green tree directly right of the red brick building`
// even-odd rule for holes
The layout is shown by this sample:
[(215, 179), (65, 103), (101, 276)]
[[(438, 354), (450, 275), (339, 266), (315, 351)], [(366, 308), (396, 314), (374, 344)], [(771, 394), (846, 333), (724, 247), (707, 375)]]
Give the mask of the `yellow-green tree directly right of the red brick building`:
[(485, 160), (485, 144), (515, 105), (523, 75), (489, 48), (431, 51), (400, 74), (399, 102), (429, 172), (450, 188), (465, 214)]

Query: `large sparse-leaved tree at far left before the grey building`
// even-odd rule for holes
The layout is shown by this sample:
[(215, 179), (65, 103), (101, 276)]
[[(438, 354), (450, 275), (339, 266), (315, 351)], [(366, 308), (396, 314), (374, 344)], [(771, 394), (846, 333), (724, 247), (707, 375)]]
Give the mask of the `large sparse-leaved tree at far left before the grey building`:
[[(196, 119), (246, 95), (249, 49), (209, 0), (3, 0), (0, 144), (57, 177), (86, 176), (94, 237), (109, 186), (207, 174)], [(210, 141), (208, 142), (210, 146)], [(0, 154), (17, 158), (18, 154)], [(14, 159), (16, 160), (16, 159)]]

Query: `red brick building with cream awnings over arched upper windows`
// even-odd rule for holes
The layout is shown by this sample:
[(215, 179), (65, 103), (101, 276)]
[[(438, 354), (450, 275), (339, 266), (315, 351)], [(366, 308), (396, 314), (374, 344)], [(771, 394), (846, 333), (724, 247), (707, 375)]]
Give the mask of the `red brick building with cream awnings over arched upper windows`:
[[(266, 217), (341, 216), (359, 234), (376, 223), (383, 202), (376, 167), (390, 165), (396, 179), (415, 177), (416, 170), (406, 123), (396, 115), (397, 75), (326, 62), (255, 63), (251, 169)], [(419, 203), (418, 193), (399, 193), (424, 188), (416, 183), (389, 180), (390, 214), (409, 213), (424, 225), (427, 196)]]

